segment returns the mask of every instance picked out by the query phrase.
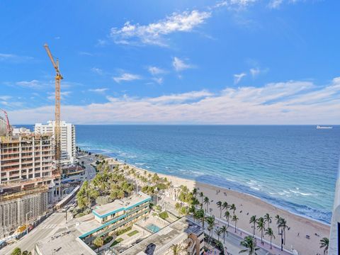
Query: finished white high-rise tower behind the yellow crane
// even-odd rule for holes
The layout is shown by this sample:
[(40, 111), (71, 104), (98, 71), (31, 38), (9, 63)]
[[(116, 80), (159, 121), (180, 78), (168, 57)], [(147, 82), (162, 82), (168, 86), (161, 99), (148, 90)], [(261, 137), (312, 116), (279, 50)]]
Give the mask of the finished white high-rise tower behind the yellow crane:
[[(62, 163), (74, 163), (76, 160), (76, 128), (71, 123), (60, 121), (61, 128), (61, 155)], [(50, 120), (47, 124), (35, 123), (36, 134), (55, 134), (55, 120)]]

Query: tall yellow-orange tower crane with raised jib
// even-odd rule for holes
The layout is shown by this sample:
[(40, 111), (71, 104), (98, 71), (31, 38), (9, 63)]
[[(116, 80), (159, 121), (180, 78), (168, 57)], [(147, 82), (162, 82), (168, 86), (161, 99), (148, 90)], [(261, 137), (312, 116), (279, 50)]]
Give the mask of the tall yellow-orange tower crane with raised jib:
[(44, 45), (45, 50), (47, 52), (48, 57), (55, 67), (55, 163), (57, 167), (57, 171), (61, 173), (60, 169), (60, 154), (61, 154), (61, 128), (60, 128), (60, 81), (63, 79), (62, 74), (59, 69), (59, 60), (55, 62), (53, 56), (50, 52), (50, 48), (47, 43)]

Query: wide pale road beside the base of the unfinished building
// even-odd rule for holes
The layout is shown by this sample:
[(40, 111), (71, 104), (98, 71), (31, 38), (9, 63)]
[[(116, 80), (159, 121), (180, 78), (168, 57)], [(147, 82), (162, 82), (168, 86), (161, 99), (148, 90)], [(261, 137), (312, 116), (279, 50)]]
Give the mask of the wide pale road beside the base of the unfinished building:
[(32, 254), (34, 254), (33, 250), (36, 242), (52, 236), (52, 234), (55, 234), (55, 232), (62, 227), (65, 227), (65, 213), (55, 212), (38, 225), (38, 227), (35, 227), (35, 229), (29, 232), (28, 235), (1, 249), (0, 253), (10, 255), (14, 248), (19, 247), (21, 251), (32, 251)]

